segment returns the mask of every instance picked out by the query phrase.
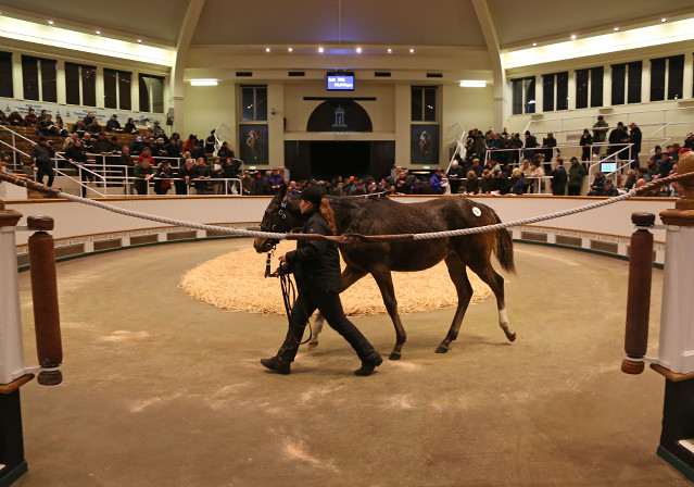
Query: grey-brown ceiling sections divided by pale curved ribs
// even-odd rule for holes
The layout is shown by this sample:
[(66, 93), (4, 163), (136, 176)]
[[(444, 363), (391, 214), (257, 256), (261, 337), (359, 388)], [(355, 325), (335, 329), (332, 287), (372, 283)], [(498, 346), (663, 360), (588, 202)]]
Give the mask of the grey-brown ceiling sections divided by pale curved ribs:
[[(0, 0), (0, 13), (104, 36), (175, 47), (190, 2), (185, 0)], [(571, 33), (694, 13), (682, 0), (487, 0), (502, 49)], [(484, 48), (471, 0), (205, 0), (190, 43), (197, 48), (329, 45)]]

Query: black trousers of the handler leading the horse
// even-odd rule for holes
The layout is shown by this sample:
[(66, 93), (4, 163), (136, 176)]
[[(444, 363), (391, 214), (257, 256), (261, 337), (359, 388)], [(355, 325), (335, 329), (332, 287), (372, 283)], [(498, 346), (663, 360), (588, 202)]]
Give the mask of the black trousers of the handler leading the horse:
[(350, 322), (342, 310), (340, 295), (328, 290), (300, 290), (296, 301), (291, 310), (291, 320), (287, 338), (279, 348), (277, 357), (283, 362), (293, 362), (299, 345), (304, 336), (306, 321), (314, 311), (320, 311), (328, 324), (344, 338), (354, 349), (362, 362), (376, 363), (378, 352), (366, 339), (362, 332)]

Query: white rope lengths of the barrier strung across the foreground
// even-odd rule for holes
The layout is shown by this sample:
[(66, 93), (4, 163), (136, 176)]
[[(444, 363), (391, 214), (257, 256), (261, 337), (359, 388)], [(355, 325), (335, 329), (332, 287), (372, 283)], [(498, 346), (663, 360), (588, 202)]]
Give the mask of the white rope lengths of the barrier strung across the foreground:
[[(432, 233), (428, 233), (428, 234), (415, 234), (415, 235), (413, 235), (413, 239), (414, 240), (431, 240), (431, 239), (436, 239), (436, 238), (459, 237), (459, 236), (463, 236), (463, 235), (481, 234), (483, 232), (495, 232), (497, 229), (509, 228), (509, 227), (513, 227), (513, 226), (529, 225), (531, 223), (543, 222), (545, 220), (559, 218), (561, 216), (568, 216), (568, 215), (572, 215), (572, 214), (576, 214), (576, 213), (581, 213), (581, 212), (584, 212), (584, 211), (594, 210), (594, 209), (600, 208), (600, 207), (605, 207), (607, 204), (613, 204), (613, 203), (617, 203), (619, 201), (623, 201), (623, 200), (626, 200), (628, 198), (631, 198), (632, 196), (636, 196), (636, 190), (635, 189), (632, 189), (632, 190), (630, 190), (629, 192), (627, 192), (624, 195), (620, 195), (620, 196), (616, 196), (614, 198), (609, 198), (607, 200), (596, 201), (594, 203), (586, 204), (584, 207), (572, 208), (570, 210), (564, 210), (564, 211), (559, 211), (559, 212), (556, 212), (556, 213), (550, 213), (550, 214), (545, 214), (545, 215), (533, 216), (531, 218), (526, 218), (526, 220), (517, 220), (515, 222), (496, 223), (494, 225), (477, 226), (477, 227), (471, 227), (471, 228), (459, 228), (459, 229), (455, 229), (455, 230), (445, 230), (445, 232), (432, 232)], [(229, 235), (239, 235), (239, 236), (244, 236), (244, 237), (262, 237), (262, 238), (269, 238), (269, 239), (275, 239), (275, 240), (283, 240), (283, 239), (287, 238), (287, 234), (270, 233), (270, 232), (255, 232), (255, 230), (248, 230), (248, 229), (243, 229), (243, 228), (230, 228), (230, 227), (217, 226), (217, 225), (205, 225), (205, 224), (202, 224), (202, 223), (187, 222), (187, 221), (184, 221), (184, 220), (175, 220), (175, 218), (168, 218), (168, 217), (165, 217), (165, 216), (159, 216), (159, 215), (152, 215), (152, 214), (148, 214), (148, 213), (141, 213), (139, 211), (126, 210), (124, 208), (114, 207), (112, 204), (108, 204), (108, 203), (104, 203), (102, 201), (90, 200), (88, 198), (81, 198), (81, 197), (78, 197), (78, 196), (75, 196), (75, 195), (70, 195), (70, 193), (61, 192), (61, 191), (58, 192), (58, 197), (64, 198), (66, 200), (71, 200), (71, 201), (76, 201), (78, 203), (84, 203), (84, 204), (89, 204), (91, 207), (101, 208), (103, 210), (108, 210), (108, 211), (111, 211), (113, 213), (118, 213), (118, 214), (126, 215), (126, 216), (134, 216), (136, 218), (151, 220), (153, 222), (165, 223), (165, 224), (168, 224), (168, 225), (184, 226), (184, 227), (188, 227), (188, 228), (195, 228), (195, 229), (209, 230), (209, 232), (217, 232), (217, 233), (229, 234)], [(368, 236), (366, 236), (366, 237), (368, 237)]]

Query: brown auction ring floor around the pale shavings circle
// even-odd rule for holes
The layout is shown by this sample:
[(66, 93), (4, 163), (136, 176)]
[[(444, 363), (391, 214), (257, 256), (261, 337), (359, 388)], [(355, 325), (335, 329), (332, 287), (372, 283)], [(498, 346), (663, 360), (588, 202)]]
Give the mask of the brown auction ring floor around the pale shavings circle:
[[(664, 378), (619, 370), (627, 262), (516, 245), (513, 345), (488, 299), (447, 354), (433, 351), (453, 309), (403, 315), (403, 359), (371, 377), (352, 375), (358, 361), (328, 327), (279, 376), (258, 359), (277, 350), (285, 317), (224, 312), (177, 288), (186, 270), (250, 245), (59, 264), (65, 379), (22, 388), (29, 472), (16, 486), (690, 485), (656, 455)], [(661, 280), (655, 271), (652, 354)], [(21, 274), (31, 365), (28, 282)], [(388, 355), (387, 315), (353, 322)]]

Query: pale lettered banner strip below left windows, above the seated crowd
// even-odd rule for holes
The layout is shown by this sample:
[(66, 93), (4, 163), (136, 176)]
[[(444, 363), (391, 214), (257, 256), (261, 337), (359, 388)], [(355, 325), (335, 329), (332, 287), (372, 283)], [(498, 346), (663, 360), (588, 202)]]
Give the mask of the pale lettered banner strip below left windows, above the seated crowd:
[(166, 114), (164, 113), (125, 112), (123, 110), (115, 109), (98, 109), (93, 107), (65, 105), (46, 101), (26, 101), (14, 100), (12, 98), (0, 98), (0, 110), (2, 110), (5, 115), (9, 115), (14, 110), (18, 110), (20, 114), (24, 116), (29, 113), (29, 109), (34, 109), (37, 116), (41, 113), (41, 110), (46, 110), (51, 114), (51, 116), (53, 116), (53, 118), (55, 118), (56, 115), (60, 115), (66, 124), (74, 124), (77, 118), (84, 118), (90, 112), (94, 114), (94, 117), (102, 126), (105, 126), (106, 122), (110, 121), (111, 116), (114, 114), (118, 115), (121, 126), (125, 125), (128, 118), (133, 118), (135, 121), (135, 125), (138, 127), (151, 127), (154, 122), (159, 122), (162, 128), (165, 128), (164, 124), (166, 123)]

